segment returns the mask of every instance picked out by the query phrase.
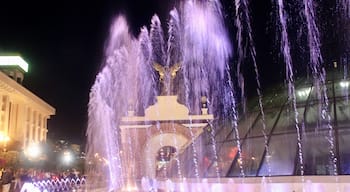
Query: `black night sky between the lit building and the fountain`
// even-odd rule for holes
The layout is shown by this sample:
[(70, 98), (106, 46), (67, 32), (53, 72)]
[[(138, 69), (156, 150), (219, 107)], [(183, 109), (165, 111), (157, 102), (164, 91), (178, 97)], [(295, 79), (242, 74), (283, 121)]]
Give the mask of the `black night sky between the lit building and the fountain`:
[[(49, 120), (49, 138), (78, 143), (85, 140), (89, 90), (100, 69), (103, 45), (113, 17), (125, 13), (133, 33), (137, 34), (141, 26), (149, 26), (154, 13), (160, 15), (165, 25), (164, 17), (175, 2), (63, 0), (1, 3), (0, 52), (20, 53), (30, 65), (24, 85), (56, 108), (56, 115)], [(232, 3), (225, 3), (226, 18), (233, 15)], [(264, 9), (269, 5), (254, 6)], [(259, 11), (253, 14), (253, 17), (266, 16), (268, 13)], [(232, 29), (233, 20), (227, 23)], [(261, 21), (254, 23), (260, 30), (256, 32), (258, 36), (265, 35), (264, 24)], [(259, 39), (258, 44), (266, 43), (264, 38)]]

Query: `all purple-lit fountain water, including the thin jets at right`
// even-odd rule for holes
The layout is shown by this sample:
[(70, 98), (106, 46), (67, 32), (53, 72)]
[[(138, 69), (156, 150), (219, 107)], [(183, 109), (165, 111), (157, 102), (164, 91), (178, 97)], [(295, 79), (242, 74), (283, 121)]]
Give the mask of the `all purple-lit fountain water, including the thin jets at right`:
[[(291, 56), (290, 40), (288, 36), (288, 18), (285, 12), (284, 0), (276, 0), (277, 16), (280, 30), (280, 52), (285, 63), (286, 81), (288, 83), (288, 99), (293, 108), (293, 120), (295, 120), (295, 130), (297, 132), (297, 158), (300, 165), (301, 175), (304, 175), (304, 156), (302, 126), (299, 121), (297, 108), (295, 75)], [(348, 5), (348, 0), (342, 1)], [(269, 134), (265, 124), (265, 112), (263, 106), (262, 87), (260, 75), (256, 61), (256, 50), (253, 41), (253, 30), (250, 24), (248, 0), (235, 0), (237, 27), (237, 76), (241, 89), (241, 98), (245, 105), (245, 80), (241, 72), (246, 56), (252, 59), (256, 92), (259, 99), (259, 109), (261, 114), (261, 131), (264, 136), (264, 150), (267, 164), (267, 175), (271, 176), (270, 159), (272, 156), (269, 149)], [(332, 159), (333, 174), (337, 175), (337, 159), (335, 157), (334, 133), (328, 111), (329, 102), (327, 98), (326, 76), (321, 67), (322, 56), (320, 51), (319, 31), (316, 25), (316, 16), (312, 0), (300, 1), (303, 3), (304, 25), (307, 26), (307, 40), (310, 52), (310, 69), (314, 77), (314, 90), (318, 99), (323, 101), (320, 104), (319, 117), (322, 123), (327, 125), (329, 130), (327, 141), (329, 143), (329, 155)], [(167, 31), (164, 23), (167, 23)], [(164, 30), (164, 31), (163, 31)], [(244, 39), (244, 32), (247, 32)], [(302, 31), (304, 32), (304, 31)], [(247, 45), (243, 45), (244, 42)], [(248, 54), (246, 54), (246, 52)], [(218, 0), (213, 1), (182, 1), (178, 9), (173, 9), (169, 13), (167, 22), (161, 22), (157, 15), (150, 21), (150, 26), (141, 28), (138, 37), (129, 33), (129, 26), (123, 16), (115, 18), (111, 25), (110, 36), (105, 47), (105, 57), (102, 62), (100, 73), (91, 88), (89, 101), (89, 122), (87, 129), (88, 150), (88, 182), (89, 186), (99, 186), (112, 190), (131, 190), (139, 183), (144, 190), (156, 189), (158, 182), (154, 176), (150, 176), (145, 171), (145, 164), (154, 164), (155, 159), (145, 158), (145, 164), (140, 162), (142, 154), (136, 153), (132, 143), (142, 144), (135, 138), (139, 134), (134, 131), (130, 134), (121, 134), (122, 117), (144, 116), (145, 110), (157, 102), (157, 96), (177, 95), (178, 102), (189, 109), (190, 115), (201, 114), (203, 100), (208, 107), (209, 114), (213, 114), (216, 119), (225, 119), (231, 122), (232, 145), (236, 145), (238, 153), (238, 166), (240, 176), (245, 177), (245, 162), (242, 158), (242, 143), (240, 130), (238, 129), (239, 114), (236, 111), (233, 83), (231, 81), (229, 59), (232, 55), (232, 47), (229, 35), (225, 28), (221, 4)], [(156, 66), (158, 66), (158, 72)], [(162, 77), (161, 70), (174, 70), (176, 76), (166, 73)], [(162, 79), (161, 79), (162, 78)], [(160, 80), (161, 79), (161, 80)], [(204, 98), (204, 99), (203, 99)], [(245, 106), (243, 107), (245, 110)], [(172, 109), (169, 109), (172, 110)], [(278, 117), (279, 118), (279, 117)], [(195, 119), (189, 119), (189, 124), (195, 124)], [(147, 125), (149, 122), (141, 122)], [(173, 122), (170, 122), (171, 124)], [(221, 161), (216, 146), (215, 136), (217, 130), (212, 122), (207, 122), (210, 132), (208, 133), (210, 145), (206, 148), (197, 147), (196, 131), (192, 126), (188, 127), (191, 142), (186, 150), (190, 151), (188, 161), (175, 157), (176, 169), (174, 170), (184, 190), (187, 187), (186, 170), (181, 169), (184, 165), (193, 165), (193, 180), (208, 184), (207, 180), (201, 180), (203, 171), (200, 162), (205, 152), (210, 152), (212, 168), (219, 182), (221, 173), (219, 163)], [(160, 135), (159, 146), (167, 147), (169, 138), (163, 138), (161, 122), (152, 122), (154, 130), (147, 127), (146, 139)], [(177, 134), (175, 123), (171, 124), (169, 130)], [(156, 132), (156, 133), (154, 133)], [(174, 134), (174, 135), (175, 135)], [(175, 137), (172, 143), (179, 142)], [(151, 146), (146, 144), (144, 146)], [(141, 158), (139, 158), (141, 157)], [(160, 159), (165, 161), (165, 156), (160, 155)], [(261, 166), (260, 166), (261, 167)], [(164, 166), (165, 172), (172, 171), (172, 167)], [(205, 168), (206, 169), (206, 168)], [(226, 170), (227, 171), (227, 170)], [(142, 178), (138, 173), (144, 173)], [(169, 179), (165, 176), (164, 179)], [(270, 178), (267, 178), (270, 179)], [(266, 178), (263, 177), (265, 190), (268, 190)], [(166, 180), (167, 186), (173, 188), (172, 181)], [(244, 181), (244, 180), (242, 180)], [(245, 185), (246, 186), (246, 185)], [(130, 188), (129, 188), (130, 187)], [(192, 186), (193, 187), (193, 186)], [(219, 187), (219, 185), (217, 185)]]

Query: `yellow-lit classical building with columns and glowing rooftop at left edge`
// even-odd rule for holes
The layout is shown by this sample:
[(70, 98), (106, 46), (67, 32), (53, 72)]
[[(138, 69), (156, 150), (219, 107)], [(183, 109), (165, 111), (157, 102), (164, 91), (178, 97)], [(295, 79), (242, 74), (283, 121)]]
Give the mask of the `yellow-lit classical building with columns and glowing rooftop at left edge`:
[[(18, 60), (6, 65), (0, 58), (0, 142), (17, 142), (22, 148), (46, 141), (47, 120), (55, 108), (22, 86), (26, 69)], [(4, 60), (4, 59), (3, 59)], [(5, 143), (6, 144), (6, 143)]]

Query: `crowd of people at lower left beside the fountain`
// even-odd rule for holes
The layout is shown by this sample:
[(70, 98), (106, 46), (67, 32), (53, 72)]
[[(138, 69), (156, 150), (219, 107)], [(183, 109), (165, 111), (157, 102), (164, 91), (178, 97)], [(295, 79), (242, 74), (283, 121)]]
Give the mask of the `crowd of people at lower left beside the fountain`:
[(2, 185), (0, 192), (21, 192), (22, 186), (25, 183), (55, 182), (65, 179), (77, 180), (82, 178), (82, 175), (75, 169), (63, 172), (48, 172), (36, 169), (20, 168), (14, 170), (4, 168), (0, 171), (0, 178)]

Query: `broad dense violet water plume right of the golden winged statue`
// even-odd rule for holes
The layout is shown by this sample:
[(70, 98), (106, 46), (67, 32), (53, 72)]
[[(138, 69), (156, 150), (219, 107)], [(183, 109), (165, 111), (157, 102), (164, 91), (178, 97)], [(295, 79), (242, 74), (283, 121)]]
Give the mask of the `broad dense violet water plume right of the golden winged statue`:
[[(231, 89), (225, 85), (225, 78), (229, 78), (225, 70), (231, 46), (222, 21), (221, 5), (216, 1), (188, 1), (184, 5), (183, 18), (185, 103), (190, 112), (198, 113), (198, 103), (204, 96), (211, 113), (217, 117), (226, 115), (232, 110), (232, 99), (222, 98), (227, 97), (225, 91)], [(222, 100), (217, 100), (220, 97)], [(216, 130), (211, 131), (211, 135), (215, 135)], [(212, 149), (216, 156), (215, 142)], [(193, 150), (197, 154), (196, 149)], [(197, 164), (194, 162), (195, 166)]]

